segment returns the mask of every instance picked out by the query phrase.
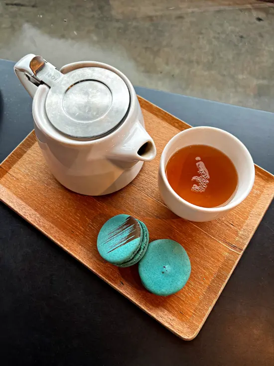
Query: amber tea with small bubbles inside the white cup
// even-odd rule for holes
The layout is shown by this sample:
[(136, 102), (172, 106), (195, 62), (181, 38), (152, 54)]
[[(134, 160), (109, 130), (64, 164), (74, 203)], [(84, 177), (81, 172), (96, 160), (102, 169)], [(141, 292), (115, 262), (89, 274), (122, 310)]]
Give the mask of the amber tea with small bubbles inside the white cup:
[(207, 208), (226, 205), (238, 185), (237, 170), (230, 158), (207, 145), (191, 145), (176, 151), (168, 160), (165, 173), (180, 197)]

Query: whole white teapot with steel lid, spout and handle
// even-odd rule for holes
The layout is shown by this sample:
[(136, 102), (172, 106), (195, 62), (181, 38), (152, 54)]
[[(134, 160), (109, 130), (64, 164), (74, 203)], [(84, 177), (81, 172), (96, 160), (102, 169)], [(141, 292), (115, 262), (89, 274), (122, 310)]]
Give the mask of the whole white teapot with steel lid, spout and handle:
[(156, 148), (144, 129), (130, 80), (101, 62), (74, 62), (58, 71), (28, 54), (14, 66), (33, 97), (34, 130), (55, 178), (86, 195), (129, 184)]

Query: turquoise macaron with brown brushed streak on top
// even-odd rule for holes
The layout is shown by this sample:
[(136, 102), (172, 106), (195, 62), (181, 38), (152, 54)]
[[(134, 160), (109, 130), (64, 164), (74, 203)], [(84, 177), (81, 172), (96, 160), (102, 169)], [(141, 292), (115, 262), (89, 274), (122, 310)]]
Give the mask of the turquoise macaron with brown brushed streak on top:
[(102, 258), (118, 267), (136, 264), (145, 254), (149, 241), (143, 222), (130, 215), (117, 215), (101, 228), (97, 249)]

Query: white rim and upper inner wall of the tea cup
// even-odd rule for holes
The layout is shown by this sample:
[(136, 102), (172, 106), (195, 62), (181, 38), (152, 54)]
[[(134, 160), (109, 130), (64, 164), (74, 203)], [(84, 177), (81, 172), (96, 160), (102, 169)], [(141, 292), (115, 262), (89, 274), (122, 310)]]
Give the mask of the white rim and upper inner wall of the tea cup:
[[(193, 205), (192, 203), (184, 200), (182, 197), (180, 197), (174, 190), (173, 188), (170, 186), (168, 180), (167, 180), (167, 177), (166, 177), (166, 174), (165, 174), (165, 157), (166, 157), (166, 152), (167, 150), (170, 148), (170, 146), (172, 146), (173, 142), (175, 140), (177, 140), (182, 134), (187, 134), (190, 130), (193, 131), (193, 129), (203, 129), (203, 130), (215, 130), (217, 132), (220, 132), (222, 134), (225, 134), (227, 136), (229, 136), (230, 138), (232, 138), (237, 144), (241, 145), (244, 152), (245, 152), (245, 155), (246, 155), (246, 158), (247, 158), (247, 161), (248, 161), (248, 164), (250, 165), (250, 168), (251, 168), (251, 177), (250, 177), (250, 181), (249, 181), (249, 184), (246, 186), (244, 192), (241, 194), (241, 196), (235, 200), (234, 202), (232, 201), (231, 203), (228, 203), (227, 205), (225, 206), (221, 206), (221, 207), (213, 207), (213, 208), (207, 208), (207, 207), (201, 207), (201, 206), (196, 206), (196, 205)], [(219, 149), (220, 150), (220, 149)], [(174, 152), (173, 152), (174, 153)], [(172, 155), (172, 154), (171, 154)], [(253, 169), (252, 169), (253, 167)], [(253, 187), (253, 184), (254, 184), (254, 180), (255, 180), (255, 167), (254, 167), (254, 162), (253, 162), (253, 159), (252, 159), (252, 156), (250, 154), (250, 152), (248, 151), (248, 149), (246, 148), (246, 146), (237, 138), (235, 137), (234, 135), (232, 135), (231, 133), (225, 131), (225, 130), (222, 130), (221, 128), (216, 128), (216, 127), (209, 127), (209, 126), (198, 126), (198, 127), (191, 127), (191, 128), (187, 128), (186, 130), (183, 130), (179, 133), (177, 133), (175, 136), (173, 136), (169, 141), (168, 143), (165, 145), (163, 151), (162, 151), (162, 154), (161, 154), (161, 159), (160, 159), (160, 165), (159, 165), (159, 169), (160, 169), (160, 173), (161, 173), (161, 176), (162, 176), (162, 179), (167, 187), (167, 189), (170, 191), (171, 194), (173, 194), (173, 196), (176, 197), (176, 199), (181, 202), (182, 204), (192, 208), (192, 209), (195, 209), (197, 211), (200, 211), (200, 212), (208, 212), (208, 213), (221, 213), (221, 212), (224, 212), (224, 211), (228, 211), (228, 210), (231, 210), (233, 209), (234, 207), (238, 206), (242, 201), (244, 201), (244, 199), (249, 195), (250, 191), (252, 190), (252, 187)]]

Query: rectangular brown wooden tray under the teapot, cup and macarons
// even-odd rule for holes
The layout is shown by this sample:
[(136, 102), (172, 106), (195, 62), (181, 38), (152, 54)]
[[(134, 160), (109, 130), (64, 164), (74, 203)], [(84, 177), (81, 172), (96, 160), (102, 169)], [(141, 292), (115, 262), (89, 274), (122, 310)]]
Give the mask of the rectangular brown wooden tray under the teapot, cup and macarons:
[[(157, 169), (168, 140), (190, 126), (144, 99), (139, 101), (157, 157), (145, 163), (126, 188), (101, 197), (65, 189), (48, 171), (31, 132), (0, 165), (0, 199), (171, 332), (192, 340), (270, 205), (274, 176), (256, 166), (252, 192), (222, 219), (193, 223), (178, 218), (160, 198)], [(143, 221), (151, 241), (169, 238), (183, 245), (192, 271), (180, 292), (157, 297), (142, 287), (137, 266), (119, 269), (104, 263), (97, 252), (97, 235), (106, 220), (120, 213)]]

